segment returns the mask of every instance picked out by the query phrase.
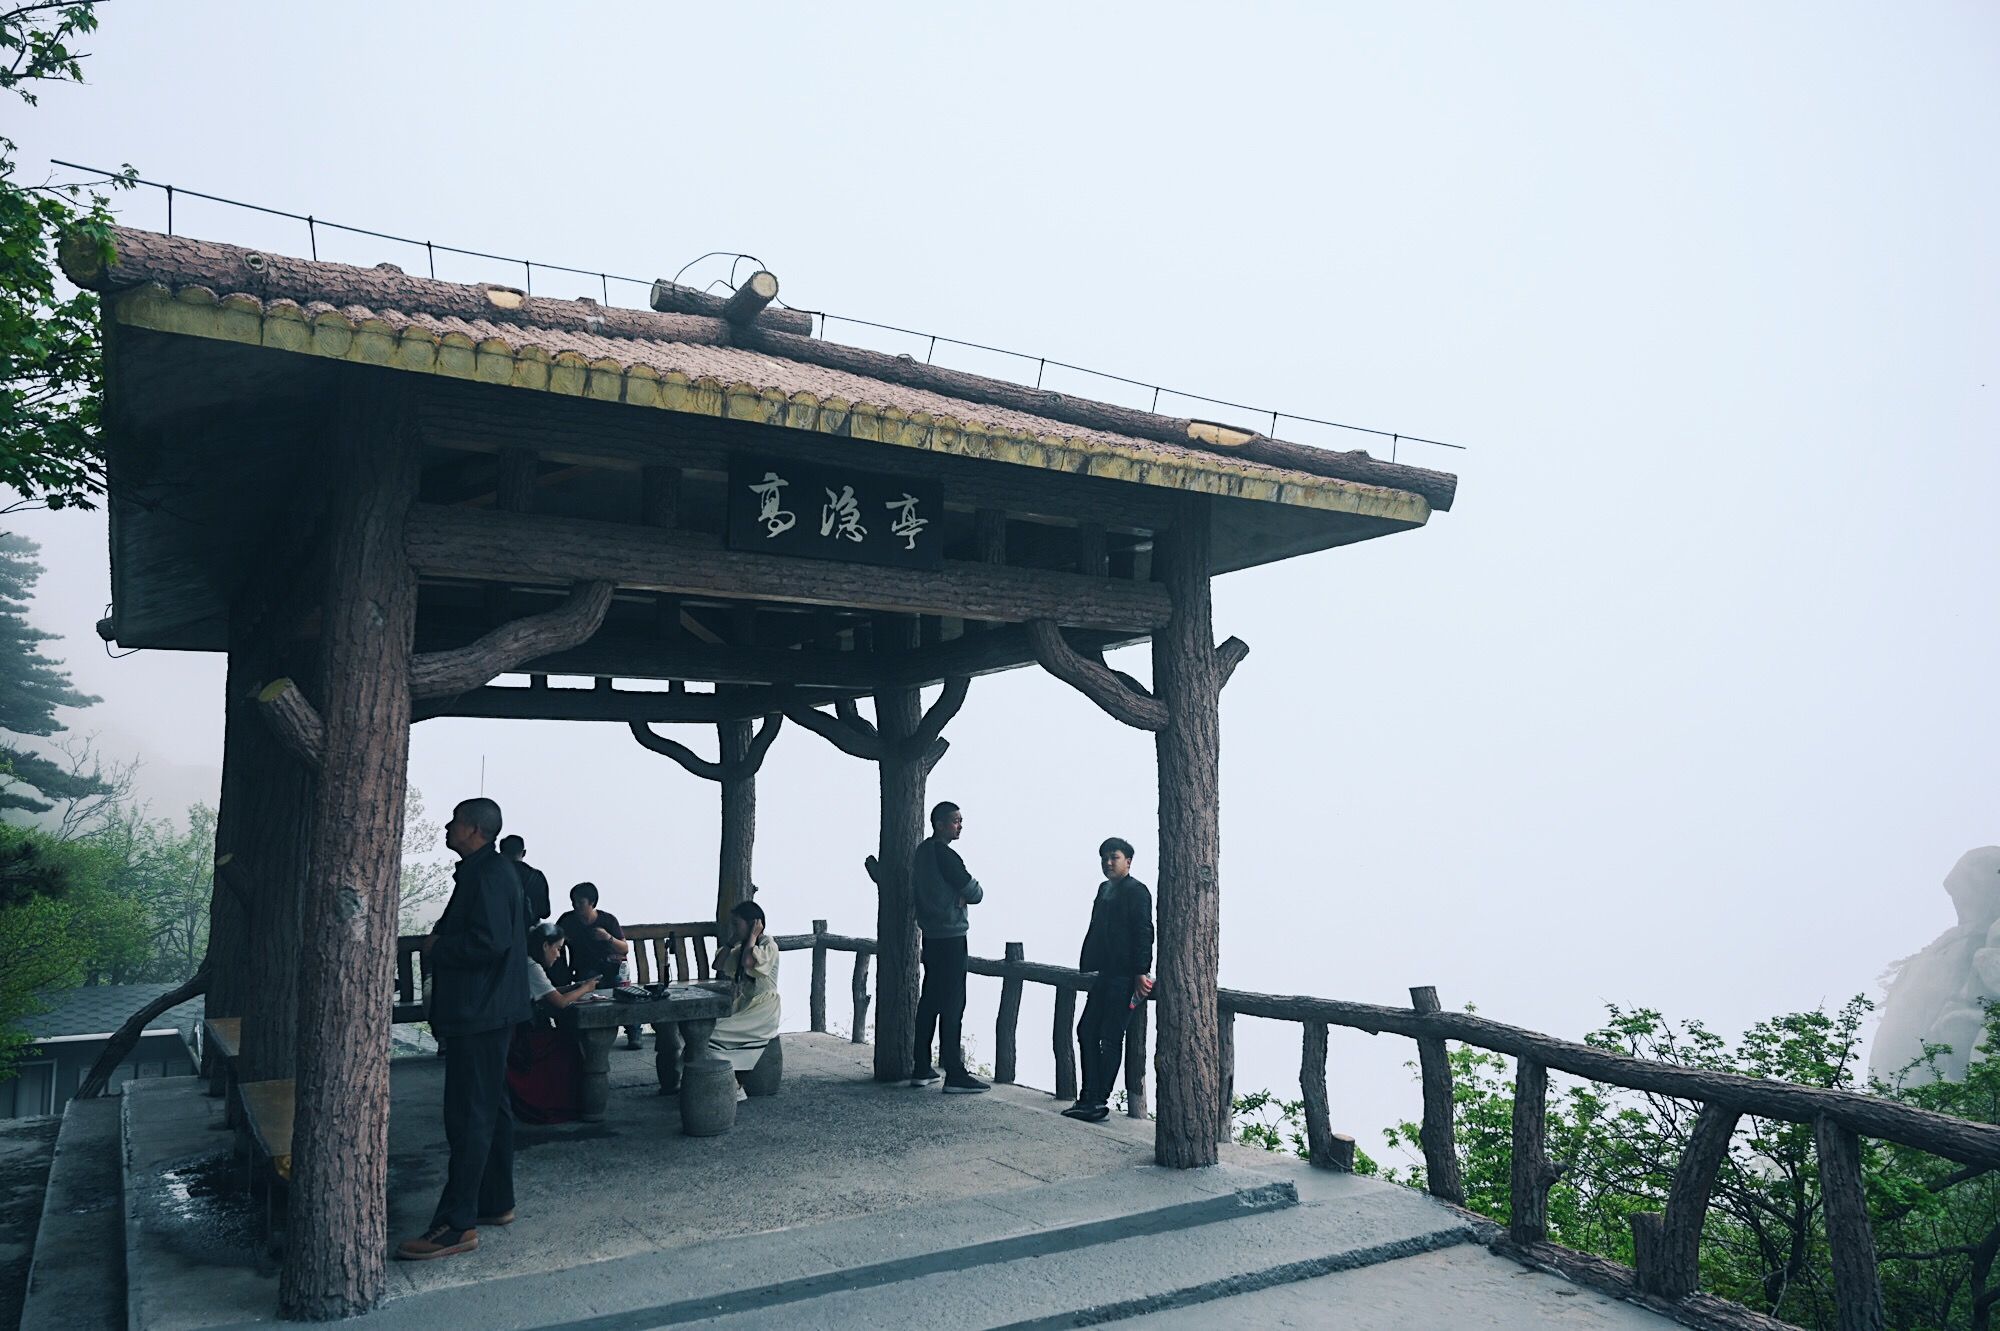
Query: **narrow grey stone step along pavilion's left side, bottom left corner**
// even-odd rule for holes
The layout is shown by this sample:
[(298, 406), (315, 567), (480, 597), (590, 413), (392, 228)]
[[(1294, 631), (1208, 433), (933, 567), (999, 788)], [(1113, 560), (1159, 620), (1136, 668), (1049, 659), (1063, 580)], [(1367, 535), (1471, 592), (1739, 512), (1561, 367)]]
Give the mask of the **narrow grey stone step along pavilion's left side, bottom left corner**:
[(118, 1167), (120, 1097), (72, 1099), (34, 1235), (22, 1331), (124, 1327), (124, 1227)]

